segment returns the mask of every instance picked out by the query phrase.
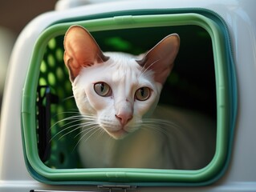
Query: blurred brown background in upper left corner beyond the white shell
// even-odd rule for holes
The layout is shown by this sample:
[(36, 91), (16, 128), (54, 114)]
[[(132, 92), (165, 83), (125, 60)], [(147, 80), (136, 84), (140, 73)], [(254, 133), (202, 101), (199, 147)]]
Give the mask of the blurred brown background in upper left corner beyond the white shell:
[(0, 110), (10, 53), (18, 34), (37, 15), (54, 10), (56, 2), (57, 0), (0, 0)]

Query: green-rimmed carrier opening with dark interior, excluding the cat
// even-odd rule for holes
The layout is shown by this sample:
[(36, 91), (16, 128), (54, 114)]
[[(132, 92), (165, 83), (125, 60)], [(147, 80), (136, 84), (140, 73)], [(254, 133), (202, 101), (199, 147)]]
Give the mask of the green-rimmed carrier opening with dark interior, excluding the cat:
[[(132, 54), (150, 49), (167, 34), (179, 34), (181, 50), (161, 102), (201, 110), (217, 122), (212, 161), (200, 170), (79, 168), (75, 147), (79, 132), (71, 118), (77, 110), (63, 62), (63, 36), (71, 25), (87, 28), (102, 50)], [(47, 184), (207, 185), (220, 178), (229, 165), (236, 112), (229, 32), (212, 11), (131, 10), (60, 20), (40, 34), (24, 84), (22, 141), (27, 170)], [(70, 134), (67, 125), (74, 126)]]

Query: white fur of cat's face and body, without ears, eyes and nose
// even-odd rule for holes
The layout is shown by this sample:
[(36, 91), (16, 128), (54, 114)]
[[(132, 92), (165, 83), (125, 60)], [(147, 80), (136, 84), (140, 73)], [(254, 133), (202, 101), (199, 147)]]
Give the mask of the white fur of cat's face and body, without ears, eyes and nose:
[[(100, 125), (91, 132), (84, 128), (81, 134), (79, 154), (83, 166), (161, 169), (206, 166), (213, 158), (214, 124), (201, 115), (158, 107), (153, 117), (172, 121), (173, 126), (159, 124), (154, 129), (141, 126), (143, 119), (155, 110), (162, 86), (154, 82), (152, 72), (141, 74), (141, 67), (128, 54), (106, 55), (111, 56), (108, 62), (82, 70), (72, 85), (80, 113), (95, 116)], [(95, 82), (107, 82), (112, 87), (112, 97), (95, 94)], [(144, 102), (134, 100), (135, 91), (141, 86), (152, 89), (151, 97)], [(115, 114), (119, 107), (125, 106), (126, 99), (131, 103), (128, 107), (133, 108), (133, 118), (124, 132)]]

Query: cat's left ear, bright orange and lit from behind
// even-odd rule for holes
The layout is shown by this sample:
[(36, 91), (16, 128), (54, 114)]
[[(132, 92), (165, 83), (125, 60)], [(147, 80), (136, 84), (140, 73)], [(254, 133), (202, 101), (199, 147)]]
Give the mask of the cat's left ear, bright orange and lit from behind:
[(64, 38), (64, 62), (69, 70), (71, 82), (83, 67), (108, 61), (95, 39), (82, 26), (71, 26)]

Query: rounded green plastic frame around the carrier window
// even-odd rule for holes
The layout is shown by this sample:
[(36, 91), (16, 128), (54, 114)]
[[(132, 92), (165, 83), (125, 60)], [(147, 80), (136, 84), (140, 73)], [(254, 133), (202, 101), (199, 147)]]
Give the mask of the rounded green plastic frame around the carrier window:
[[(214, 15), (213, 15), (214, 16)], [(196, 25), (204, 28), (213, 42), (213, 57), (217, 92), (217, 145), (216, 154), (208, 166), (201, 170), (152, 170), (126, 168), (99, 169), (51, 169), (39, 158), (36, 138), (36, 90), (43, 50), (47, 42), (64, 34), (71, 25), (85, 26), (90, 31), (142, 28), (154, 26)], [(223, 32), (224, 31), (224, 32)], [(56, 23), (39, 36), (26, 75), (22, 94), (22, 137), (26, 166), (30, 174), (41, 182), (51, 184), (102, 184), (129, 183), (136, 186), (180, 186), (205, 185), (220, 175), (230, 153), (230, 132), (234, 124), (234, 113), (230, 109), (230, 97), (235, 86), (234, 69), (230, 50), (226, 50), (229, 38), (226, 29), (202, 14), (151, 14), (97, 18), (77, 22)], [(227, 56), (228, 55), (228, 56)], [(227, 64), (227, 62), (229, 62)], [(231, 78), (230, 78), (231, 77)], [(235, 101), (235, 98), (233, 99)], [(235, 107), (234, 107), (235, 108)], [(231, 117), (232, 116), (232, 117)], [(230, 118), (231, 117), (231, 118)], [(231, 127), (231, 128), (230, 128)]]

